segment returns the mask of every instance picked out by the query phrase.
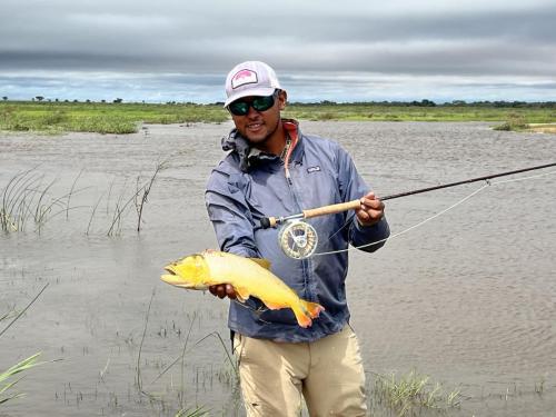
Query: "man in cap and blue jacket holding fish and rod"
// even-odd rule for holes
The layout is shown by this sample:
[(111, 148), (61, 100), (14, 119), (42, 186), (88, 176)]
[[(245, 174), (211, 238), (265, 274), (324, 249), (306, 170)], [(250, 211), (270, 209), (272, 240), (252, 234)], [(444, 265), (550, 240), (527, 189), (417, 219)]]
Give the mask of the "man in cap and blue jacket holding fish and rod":
[[(268, 64), (236, 66), (226, 79), (226, 93), (225, 107), (236, 127), (222, 139), (230, 152), (212, 170), (206, 190), (220, 249), (270, 260), (272, 272), (299, 297), (325, 307), (302, 328), (290, 309), (264, 309), (251, 299), (240, 304), (229, 285), (210, 288), (232, 299), (228, 326), (247, 414), (297, 416), (304, 396), (311, 416), (364, 416), (365, 374), (348, 324), (346, 249), (351, 244), (375, 251), (384, 245), (389, 236), (384, 203), (341, 147), (301, 133), (295, 120), (281, 118), (287, 93)], [(269, 216), (355, 199), (361, 202), (355, 215), (311, 219), (318, 246), (307, 259), (288, 258), (278, 244), (279, 230), (261, 226)]]

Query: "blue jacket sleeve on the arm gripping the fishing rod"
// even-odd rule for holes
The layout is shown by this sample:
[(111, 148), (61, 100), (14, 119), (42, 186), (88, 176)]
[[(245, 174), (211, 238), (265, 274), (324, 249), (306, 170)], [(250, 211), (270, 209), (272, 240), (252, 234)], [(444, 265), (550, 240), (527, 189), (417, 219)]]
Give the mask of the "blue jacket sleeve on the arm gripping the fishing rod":
[[(344, 201), (351, 201), (361, 198), (371, 188), (365, 182), (357, 171), (351, 157), (341, 148), (338, 148), (338, 183)], [(373, 226), (361, 226), (357, 221), (354, 211), (348, 215), (349, 229), (348, 240), (354, 247), (374, 252), (383, 247), (390, 235), (390, 229), (386, 217)]]

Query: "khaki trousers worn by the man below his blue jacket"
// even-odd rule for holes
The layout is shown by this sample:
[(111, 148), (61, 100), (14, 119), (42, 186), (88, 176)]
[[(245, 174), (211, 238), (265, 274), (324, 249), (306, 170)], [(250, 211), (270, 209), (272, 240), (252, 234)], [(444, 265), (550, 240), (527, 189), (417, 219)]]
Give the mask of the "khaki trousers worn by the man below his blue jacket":
[(354, 330), (314, 342), (276, 342), (236, 334), (234, 351), (247, 416), (365, 416), (365, 373)]

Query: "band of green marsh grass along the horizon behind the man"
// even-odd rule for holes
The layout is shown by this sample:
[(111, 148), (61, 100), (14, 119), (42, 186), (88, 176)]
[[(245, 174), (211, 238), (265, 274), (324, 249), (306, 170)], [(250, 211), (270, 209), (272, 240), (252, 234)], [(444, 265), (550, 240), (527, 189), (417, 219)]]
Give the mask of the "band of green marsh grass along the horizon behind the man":
[[(40, 96), (39, 96), (40, 97)], [(92, 131), (131, 133), (141, 123), (222, 122), (229, 119), (222, 103), (125, 103), (0, 101), (0, 130)], [(299, 120), (351, 121), (493, 121), (500, 130), (528, 130), (529, 123), (556, 121), (556, 102), (454, 101), (289, 103), (285, 117)]]

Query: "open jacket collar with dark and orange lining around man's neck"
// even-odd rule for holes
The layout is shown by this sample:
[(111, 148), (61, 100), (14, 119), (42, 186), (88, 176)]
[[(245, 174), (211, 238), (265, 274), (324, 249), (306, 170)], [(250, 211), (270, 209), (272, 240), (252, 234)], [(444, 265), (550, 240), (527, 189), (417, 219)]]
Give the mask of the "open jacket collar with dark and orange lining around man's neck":
[[(284, 128), (292, 139), (292, 143), (295, 143), (289, 161), (290, 163), (301, 162), (304, 143), (299, 123), (294, 119), (282, 119), (281, 121)], [(295, 140), (296, 137), (297, 140)], [(266, 153), (257, 148), (251, 148), (249, 141), (244, 138), (236, 128), (234, 128), (228, 136), (222, 138), (221, 145), (225, 151), (231, 150), (232, 152), (237, 152), (239, 157), (239, 167), (244, 172), (247, 172), (250, 167), (260, 162), (264, 163), (264, 161), (279, 159), (276, 155)]]

